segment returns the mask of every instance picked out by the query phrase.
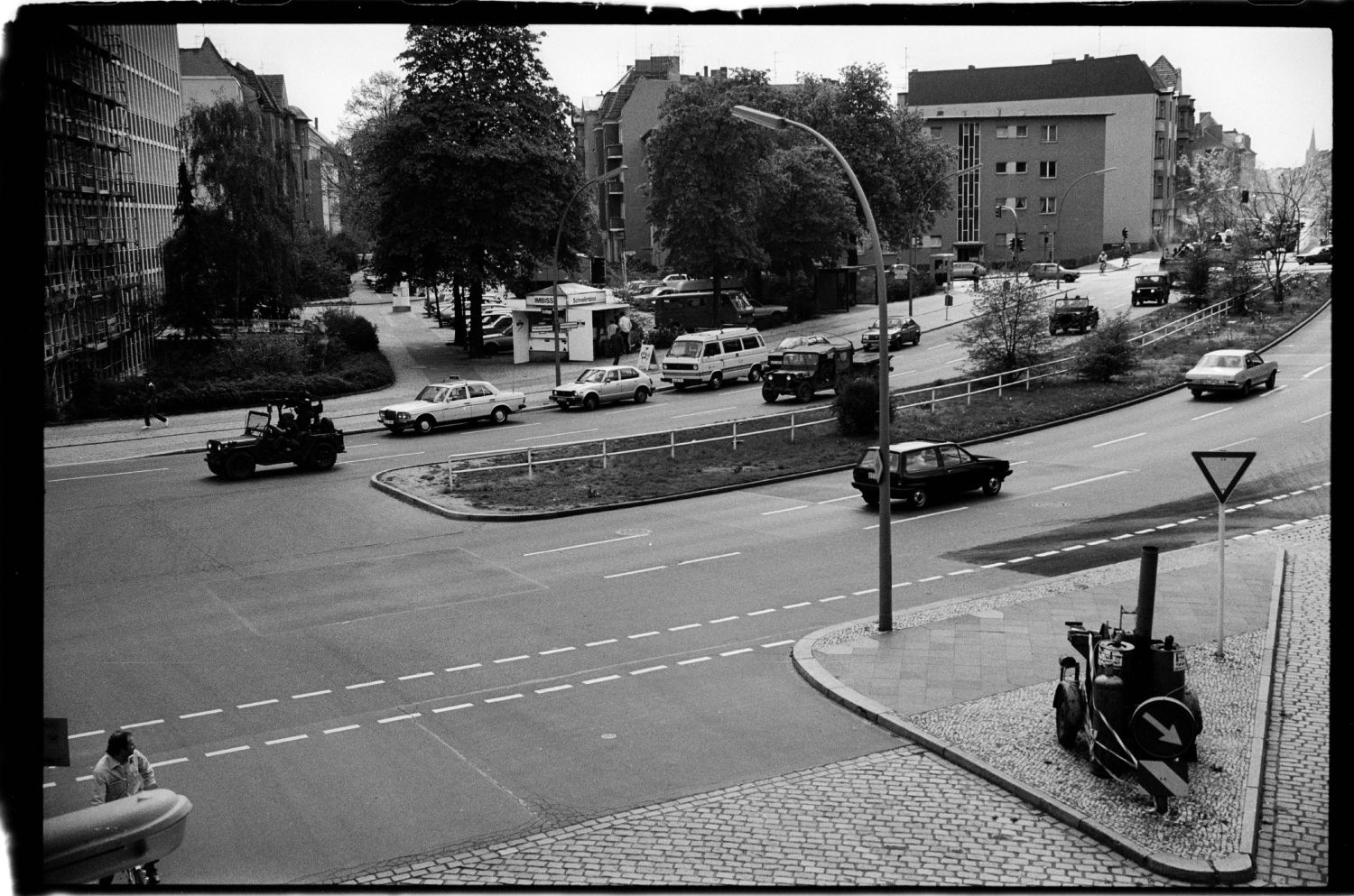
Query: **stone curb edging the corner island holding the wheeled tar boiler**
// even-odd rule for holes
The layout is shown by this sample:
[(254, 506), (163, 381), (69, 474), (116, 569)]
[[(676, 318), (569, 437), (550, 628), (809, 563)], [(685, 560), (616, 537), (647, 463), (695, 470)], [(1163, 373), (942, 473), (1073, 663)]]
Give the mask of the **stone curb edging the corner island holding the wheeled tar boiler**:
[[(1117, 831), (1087, 816), (1085, 812), (1053, 796), (1049, 796), (1044, 790), (1006, 776), (988, 765), (986, 761), (969, 754), (963, 747), (955, 746), (944, 738), (938, 738), (923, 728), (913, 725), (907, 721), (906, 716), (902, 716), (879, 701), (845, 686), (841, 679), (829, 673), (822, 663), (814, 659), (815, 643), (835, 632), (856, 628), (862, 624), (868, 625), (875, 617), (838, 623), (835, 625), (827, 625), (815, 632), (810, 632), (795, 643), (795, 647), (791, 650), (791, 660), (795, 665), (795, 671), (798, 671), (802, 678), (804, 678), (815, 690), (826, 696), (829, 700), (841, 704), (856, 715), (865, 717), (868, 721), (872, 721), (911, 740), (913, 743), (917, 743), (921, 747), (925, 747), (926, 750), (930, 750), (942, 759), (952, 762), (961, 769), (990, 781), (991, 784), (995, 784), (1011, 796), (1016, 796), (1021, 801), (1034, 807), (1040, 812), (1052, 815), (1064, 824), (1086, 834), (1105, 846), (1109, 846), (1116, 853), (1125, 855), (1151, 872), (1175, 880), (1208, 887), (1244, 884), (1255, 880), (1257, 876), (1255, 850), (1259, 838), (1261, 785), (1263, 781), (1265, 744), (1266, 735), (1269, 732), (1267, 721), (1274, 686), (1274, 646), (1278, 637), (1278, 616), (1284, 600), (1286, 562), (1288, 551), (1280, 548), (1275, 559), (1274, 583), (1270, 590), (1270, 610), (1266, 620), (1265, 650), (1259, 665), (1261, 681), (1257, 686), (1258, 694), (1255, 701), (1255, 716), (1251, 727), (1251, 742), (1248, 750), (1250, 763), (1246, 776), (1244, 793), (1242, 797), (1240, 842), (1243, 851), (1229, 853), (1210, 859), (1198, 859), (1177, 855), (1174, 853), (1148, 850), (1143, 843), (1118, 834)], [(1048, 579), (1048, 582), (1056, 582), (1072, 575), (1079, 575), (1079, 573), (1055, 577)], [(949, 604), (961, 601), (944, 602)]]

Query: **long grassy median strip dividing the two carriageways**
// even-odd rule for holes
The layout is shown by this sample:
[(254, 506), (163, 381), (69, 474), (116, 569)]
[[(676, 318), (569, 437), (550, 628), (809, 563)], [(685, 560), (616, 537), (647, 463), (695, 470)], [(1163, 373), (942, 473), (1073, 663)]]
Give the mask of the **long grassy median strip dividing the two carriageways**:
[[(1148, 346), (1140, 367), (1110, 383), (1093, 383), (1074, 376), (1039, 380), (1026, 390), (1022, 384), (1002, 394), (984, 393), (964, 401), (940, 402), (895, 414), (890, 441), (911, 439), (983, 441), (1014, 430), (1063, 421), (1078, 414), (1094, 413), (1122, 402), (1144, 398), (1183, 382), (1183, 372), (1205, 352), (1215, 348), (1263, 348), (1320, 307), (1330, 294), (1330, 280), (1317, 290), (1290, 298), (1285, 307), (1265, 303), (1244, 318), (1225, 325), (1196, 328), (1194, 332), (1163, 340)], [(1179, 303), (1163, 306), (1158, 314), (1143, 318), (1148, 328), (1182, 317), (1190, 309)], [(1145, 328), (1144, 328), (1145, 329)], [(768, 413), (784, 413), (785, 406), (768, 405)], [(788, 475), (807, 475), (845, 468), (856, 462), (867, 445), (877, 444), (875, 434), (848, 436), (839, 432), (831, 403), (795, 407), (796, 422), (791, 434), (784, 429), (785, 417), (743, 420), (738, 422), (738, 443), (731, 445), (731, 425), (711, 425), (632, 439), (601, 441), (565, 448), (538, 448), (531, 453), (509, 451), (475, 462), (478, 467), (509, 468), (458, 470), (448, 483), (447, 464), (405, 467), (379, 474), (378, 479), (416, 498), (454, 510), (502, 513), (550, 513), (604, 508), (628, 501), (653, 501), (684, 497), (708, 489), (750, 485)], [(803, 424), (821, 420), (819, 425)], [(711, 441), (701, 441), (701, 440)], [(676, 445), (672, 443), (676, 441)], [(639, 448), (657, 448), (639, 452)], [(632, 452), (632, 453), (626, 453)], [(588, 455), (588, 456), (582, 456)]]

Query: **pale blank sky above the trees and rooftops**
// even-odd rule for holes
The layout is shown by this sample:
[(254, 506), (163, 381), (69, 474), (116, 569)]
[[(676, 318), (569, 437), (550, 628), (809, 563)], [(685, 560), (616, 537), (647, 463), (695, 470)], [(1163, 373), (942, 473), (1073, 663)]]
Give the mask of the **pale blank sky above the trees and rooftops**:
[[(531, 24), (528, 22), (528, 24)], [(1259, 166), (1303, 162), (1315, 130), (1332, 139), (1332, 32), (1315, 27), (955, 27), (902, 24), (539, 24), (539, 57), (554, 85), (574, 103), (605, 93), (636, 58), (680, 55), (684, 74), (704, 69), (765, 69), (773, 83), (798, 74), (835, 76), (850, 64), (880, 64), (891, 93), (907, 72), (1043, 65), (1053, 58), (1164, 55), (1182, 69), (1197, 112), (1251, 137)], [(402, 24), (183, 23), (179, 46), (211, 38), (229, 60), (283, 74), (287, 99), (337, 137), (344, 104), (379, 70), (397, 74)], [(1026, 39), (1028, 38), (1028, 39)]]

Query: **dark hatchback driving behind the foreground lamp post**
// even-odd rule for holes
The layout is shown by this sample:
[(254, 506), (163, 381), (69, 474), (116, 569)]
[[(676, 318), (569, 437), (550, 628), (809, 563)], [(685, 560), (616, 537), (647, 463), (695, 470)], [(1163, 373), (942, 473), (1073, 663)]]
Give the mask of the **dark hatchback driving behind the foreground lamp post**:
[[(852, 485), (872, 508), (879, 506), (879, 448), (867, 448), (852, 470)], [(932, 498), (982, 489), (995, 495), (1011, 475), (1011, 466), (975, 455), (952, 441), (900, 441), (888, 447), (890, 499), (914, 509)]]

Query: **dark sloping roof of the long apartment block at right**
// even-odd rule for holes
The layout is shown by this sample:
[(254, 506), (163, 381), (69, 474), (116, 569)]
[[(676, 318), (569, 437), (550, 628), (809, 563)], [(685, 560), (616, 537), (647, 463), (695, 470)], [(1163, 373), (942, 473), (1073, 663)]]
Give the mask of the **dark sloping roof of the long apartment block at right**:
[(990, 69), (913, 72), (909, 106), (1121, 96), (1158, 92), (1152, 70), (1137, 55), (1007, 65)]

